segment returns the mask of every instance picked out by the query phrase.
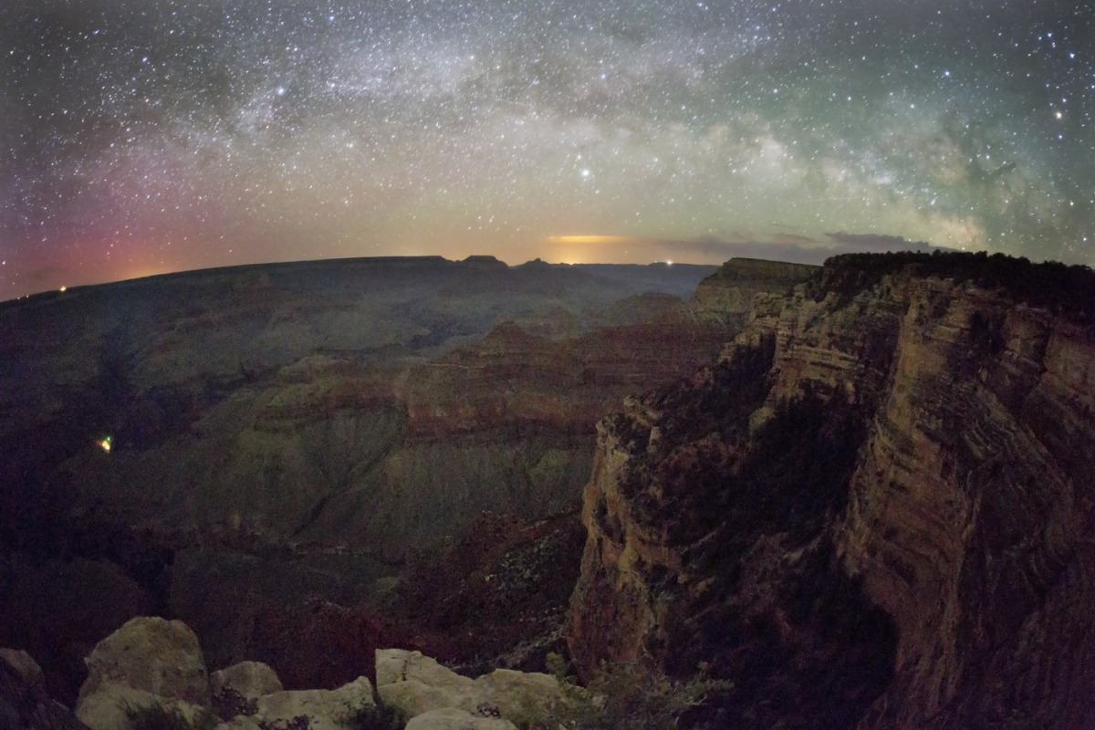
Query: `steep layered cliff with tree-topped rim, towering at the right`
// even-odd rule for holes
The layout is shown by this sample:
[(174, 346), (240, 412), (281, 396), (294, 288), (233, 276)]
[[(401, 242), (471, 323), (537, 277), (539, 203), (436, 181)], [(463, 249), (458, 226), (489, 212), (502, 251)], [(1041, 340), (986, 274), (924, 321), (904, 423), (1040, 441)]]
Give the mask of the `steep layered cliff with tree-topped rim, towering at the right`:
[(1090, 727), (1095, 336), (961, 276), (839, 268), (601, 422), (579, 667), (703, 662), (727, 720)]

